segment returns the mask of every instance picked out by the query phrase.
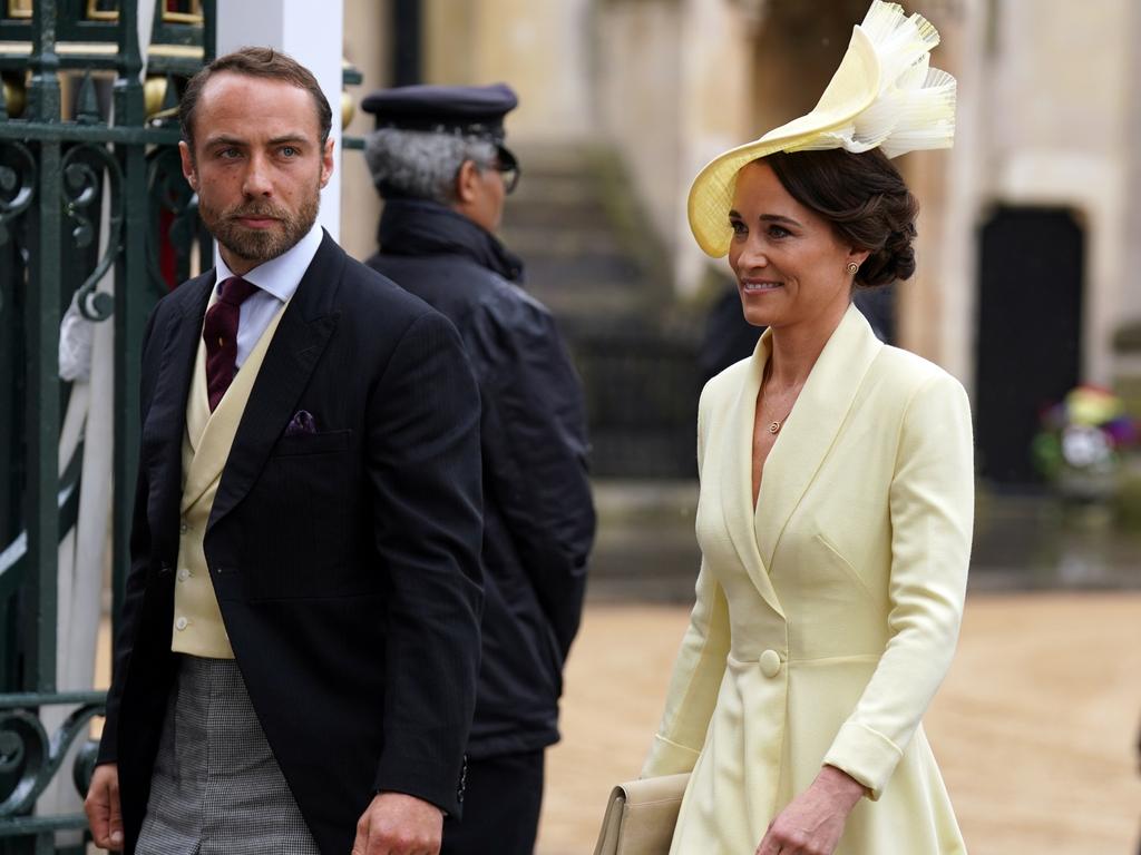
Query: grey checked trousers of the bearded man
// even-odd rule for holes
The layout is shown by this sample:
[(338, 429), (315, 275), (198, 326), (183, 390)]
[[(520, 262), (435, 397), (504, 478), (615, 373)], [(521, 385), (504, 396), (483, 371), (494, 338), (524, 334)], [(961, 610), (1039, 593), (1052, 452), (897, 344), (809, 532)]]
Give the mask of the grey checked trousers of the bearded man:
[(179, 659), (137, 855), (319, 855), (237, 663)]

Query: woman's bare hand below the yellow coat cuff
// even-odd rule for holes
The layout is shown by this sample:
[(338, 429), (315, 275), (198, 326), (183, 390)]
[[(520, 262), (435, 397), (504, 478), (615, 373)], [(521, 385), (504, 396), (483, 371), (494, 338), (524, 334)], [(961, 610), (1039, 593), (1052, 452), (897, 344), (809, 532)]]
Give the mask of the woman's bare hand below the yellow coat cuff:
[(756, 855), (832, 855), (864, 785), (825, 766), (811, 785), (769, 823)]

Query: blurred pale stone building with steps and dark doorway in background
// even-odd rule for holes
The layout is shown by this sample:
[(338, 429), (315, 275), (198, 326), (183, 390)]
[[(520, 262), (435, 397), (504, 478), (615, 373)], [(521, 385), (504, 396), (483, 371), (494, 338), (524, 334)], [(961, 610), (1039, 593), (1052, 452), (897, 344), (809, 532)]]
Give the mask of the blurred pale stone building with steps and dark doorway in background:
[[(519, 91), (509, 133), (525, 178), (504, 237), (578, 343), (588, 381), (615, 392), (591, 393), (599, 474), (690, 472), (691, 442), (664, 423), (691, 434), (691, 407), (663, 393), (656, 407), (638, 401), (642, 421), (604, 412), (630, 400), (613, 390), (624, 376), (644, 398), (657, 381), (677, 396), (699, 382), (683, 364), (728, 268), (689, 235), (689, 182), (725, 148), (807, 112), (866, 8), (346, 2), (362, 91), (500, 80)], [(971, 392), (980, 474), (1035, 484), (1030, 449), (1050, 405), (1079, 383), (1117, 391), (1134, 412), (1141, 402), (1141, 6), (929, 0), (921, 10), (942, 35), (932, 62), (960, 81), (958, 132), (950, 152), (900, 160), (922, 214), (920, 269), (895, 292), (893, 337)], [(347, 132), (366, 133), (369, 119)], [(345, 174), (342, 238), (365, 255), (379, 202), (359, 158), (346, 157)], [(620, 435), (626, 427), (641, 450)]]

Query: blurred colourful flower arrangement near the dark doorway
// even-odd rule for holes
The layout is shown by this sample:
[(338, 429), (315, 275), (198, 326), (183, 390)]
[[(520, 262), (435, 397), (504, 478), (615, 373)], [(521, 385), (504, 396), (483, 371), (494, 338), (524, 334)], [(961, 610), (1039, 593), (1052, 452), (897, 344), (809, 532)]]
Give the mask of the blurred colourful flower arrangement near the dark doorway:
[(1141, 425), (1120, 398), (1093, 385), (1070, 390), (1042, 414), (1033, 454), (1038, 471), (1068, 492), (1111, 492), (1122, 456), (1141, 443)]

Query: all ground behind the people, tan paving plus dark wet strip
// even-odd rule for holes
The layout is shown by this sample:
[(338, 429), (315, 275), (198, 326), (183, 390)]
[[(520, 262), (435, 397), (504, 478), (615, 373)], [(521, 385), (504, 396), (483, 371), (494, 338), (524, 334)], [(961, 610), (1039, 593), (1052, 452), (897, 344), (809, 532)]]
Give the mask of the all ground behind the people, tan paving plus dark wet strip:
[[(536, 855), (589, 855), (638, 774), (699, 563), (695, 482), (596, 484)], [(1141, 535), (1103, 507), (980, 491), (955, 663), (924, 719), (972, 855), (1133, 855), (1141, 839)], [(745, 855), (745, 854), (743, 854)]]

